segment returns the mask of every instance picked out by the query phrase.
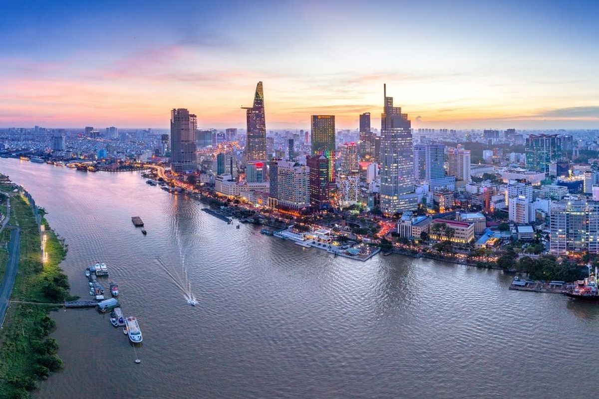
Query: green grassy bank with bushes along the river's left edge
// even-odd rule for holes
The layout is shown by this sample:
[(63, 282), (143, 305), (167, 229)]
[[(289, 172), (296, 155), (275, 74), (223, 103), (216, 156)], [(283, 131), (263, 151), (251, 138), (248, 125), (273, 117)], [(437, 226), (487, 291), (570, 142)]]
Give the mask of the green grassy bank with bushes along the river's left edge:
[[(12, 300), (59, 303), (67, 299), (68, 279), (58, 267), (66, 252), (43, 220), (46, 261), (42, 260), (41, 238), (34, 214), (19, 195), (11, 200), (11, 225), (21, 228), (20, 261)], [(56, 307), (12, 303), (0, 333), (0, 399), (29, 398), (40, 380), (62, 367), (56, 355), (58, 344), (47, 338), (55, 327), (48, 316)]]

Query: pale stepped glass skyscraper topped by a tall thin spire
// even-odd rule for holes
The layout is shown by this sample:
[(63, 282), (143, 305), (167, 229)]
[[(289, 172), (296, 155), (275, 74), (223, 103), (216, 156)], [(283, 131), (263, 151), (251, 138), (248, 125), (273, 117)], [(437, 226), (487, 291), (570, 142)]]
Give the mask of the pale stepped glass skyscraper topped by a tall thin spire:
[(380, 127), (380, 208), (385, 214), (418, 208), (414, 193), (414, 154), (411, 124), (401, 108), (393, 106), (384, 86), (385, 106)]

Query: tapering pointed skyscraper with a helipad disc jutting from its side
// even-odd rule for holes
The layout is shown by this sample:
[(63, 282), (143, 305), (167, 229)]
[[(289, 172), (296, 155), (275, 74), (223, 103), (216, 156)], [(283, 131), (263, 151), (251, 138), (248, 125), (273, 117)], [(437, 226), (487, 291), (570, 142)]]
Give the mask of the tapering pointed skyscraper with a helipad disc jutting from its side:
[(266, 150), (266, 121), (264, 117), (264, 89), (262, 82), (256, 85), (254, 103), (246, 109), (247, 116), (247, 139), (246, 160), (264, 161), (267, 159)]

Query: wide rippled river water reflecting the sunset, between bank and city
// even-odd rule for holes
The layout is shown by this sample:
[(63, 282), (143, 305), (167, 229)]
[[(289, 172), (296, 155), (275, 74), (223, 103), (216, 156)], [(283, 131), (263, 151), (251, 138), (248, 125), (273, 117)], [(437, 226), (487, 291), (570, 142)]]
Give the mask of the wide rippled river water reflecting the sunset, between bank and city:
[[(264, 236), (139, 172), (0, 159), (66, 238), (72, 293), (105, 262), (134, 349), (95, 310), (52, 313), (64, 370), (37, 398), (589, 398), (599, 306), (508, 291), (511, 276), (439, 261), (367, 262)], [(138, 215), (147, 236), (131, 223)], [(181, 284), (185, 272), (198, 306)], [(108, 286), (108, 281), (104, 284)]]

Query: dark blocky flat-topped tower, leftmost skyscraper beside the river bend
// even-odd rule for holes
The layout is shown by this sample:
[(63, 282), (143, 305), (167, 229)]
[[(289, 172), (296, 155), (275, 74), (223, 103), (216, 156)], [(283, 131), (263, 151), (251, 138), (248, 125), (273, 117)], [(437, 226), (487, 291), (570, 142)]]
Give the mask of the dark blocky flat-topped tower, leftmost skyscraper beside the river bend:
[(171, 111), (171, 170), (183, 173), (196, 169), (195, 131), (198, 121), (186, 108)]

